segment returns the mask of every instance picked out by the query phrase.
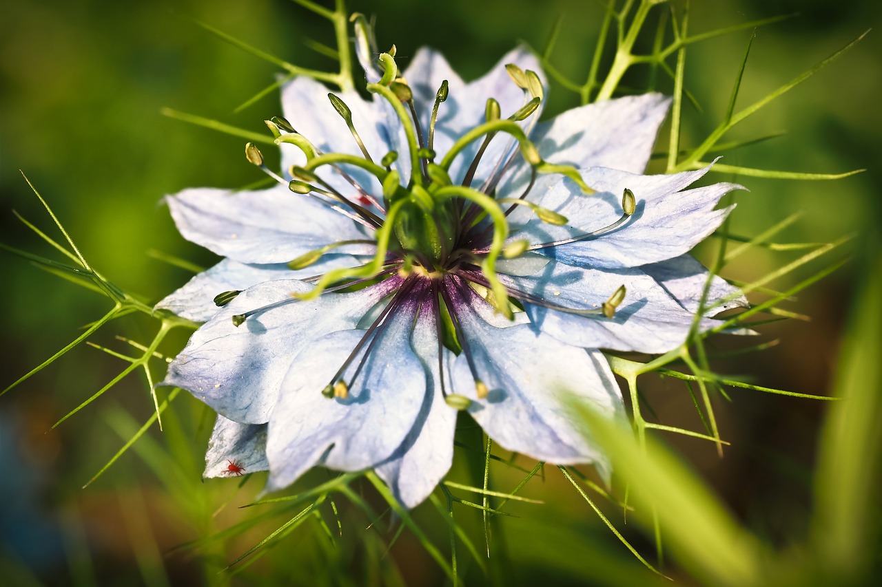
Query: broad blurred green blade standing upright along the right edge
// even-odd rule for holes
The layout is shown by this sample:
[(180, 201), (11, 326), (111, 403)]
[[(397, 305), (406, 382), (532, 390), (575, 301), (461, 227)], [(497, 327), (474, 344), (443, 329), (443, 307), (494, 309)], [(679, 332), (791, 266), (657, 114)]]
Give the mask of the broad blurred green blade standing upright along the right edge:
[(882, 256), (875, 256), (851, 308), (835, 387), (844, 401), (830, 407), (815, 477), (815, 552), (842, 584), (873, 583), (870, 565), (878, 568)]

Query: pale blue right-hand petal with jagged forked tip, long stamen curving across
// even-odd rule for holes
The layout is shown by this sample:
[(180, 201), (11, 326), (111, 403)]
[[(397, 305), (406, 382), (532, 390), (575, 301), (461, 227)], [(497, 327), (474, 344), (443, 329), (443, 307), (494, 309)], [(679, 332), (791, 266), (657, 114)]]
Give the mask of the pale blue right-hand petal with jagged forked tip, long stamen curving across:
[[(585, 241), (541, 249), (542, 253), (568, 264), (610, 268), (636, 267), (683, 255), (713, 233), (731, 211), (732, 207), (714, 210), (720, 198), (733, 189), (743, 189), (734, 183), (714, 183), (680, 191), (708, 168), (674, 175), (632, 175), (603, 167), (584, 170), (583, 177), (597, 193), (586, 196), (570, 180), (564, 180), (544, 196), (531, 198), (563, 214), (569, 219), (566, 226), (533, 219), (512, 230), (511, 239), (526, 238), (539, 244), (609, 226), (622, 215), (622, 193), (628, 188), (637, 199), (637, 209), (624, 226)], [(523, 218), (522, 212), (512, 221), (518, 218)]]

